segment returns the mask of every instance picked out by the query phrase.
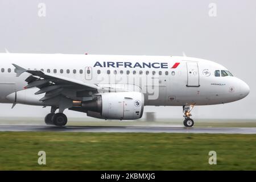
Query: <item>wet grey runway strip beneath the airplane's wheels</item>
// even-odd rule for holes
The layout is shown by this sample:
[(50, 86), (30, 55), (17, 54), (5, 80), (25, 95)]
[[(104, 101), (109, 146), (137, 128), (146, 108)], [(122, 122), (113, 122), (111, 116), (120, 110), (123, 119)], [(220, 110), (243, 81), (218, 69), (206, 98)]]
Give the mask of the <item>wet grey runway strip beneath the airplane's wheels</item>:
[(94, 133), (208, 133), (256, 134), (256, 127), (166, 127), (166, 126), (32, 126), (0, 125), (0, 131), (61, 131)]

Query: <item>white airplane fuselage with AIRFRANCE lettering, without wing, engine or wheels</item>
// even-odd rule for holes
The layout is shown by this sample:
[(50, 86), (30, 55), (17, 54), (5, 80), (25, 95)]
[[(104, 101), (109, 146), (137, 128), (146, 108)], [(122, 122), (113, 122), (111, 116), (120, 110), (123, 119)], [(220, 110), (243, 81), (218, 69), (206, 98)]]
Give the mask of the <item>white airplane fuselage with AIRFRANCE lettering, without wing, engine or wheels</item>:
[[(24, 90), (30, 75), (16, 77), (12, 64), (89, 84), (142, 92), (144, 105), (152, 106), (224, 104), (249, 93), (245, 82), (229, 75), (222, 65), (192, 57), (1, 53), (0, 60), (3, 103), (13, 102), (7, 96)], [(222, 71), (228, 75), (221, 75)]]

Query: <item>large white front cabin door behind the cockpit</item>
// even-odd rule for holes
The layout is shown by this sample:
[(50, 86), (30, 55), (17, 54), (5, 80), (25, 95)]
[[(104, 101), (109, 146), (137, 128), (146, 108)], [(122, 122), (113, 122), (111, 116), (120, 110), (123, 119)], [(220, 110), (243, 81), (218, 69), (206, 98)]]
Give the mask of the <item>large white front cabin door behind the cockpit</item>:
[(186, 86), (199, 87), (199, 69), (196, 62), (187, 62), (188, 80)]

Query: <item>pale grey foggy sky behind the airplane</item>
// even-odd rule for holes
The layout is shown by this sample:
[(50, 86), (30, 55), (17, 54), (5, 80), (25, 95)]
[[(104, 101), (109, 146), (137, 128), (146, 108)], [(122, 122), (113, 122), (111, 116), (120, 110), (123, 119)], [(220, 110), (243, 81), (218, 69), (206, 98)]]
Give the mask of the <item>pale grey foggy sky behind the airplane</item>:
[[(39, 3), (46, 6), (46, 16)], [(5, 48), (15, 53), (181, 56), (185, 52), (216, 61), (245, 81), (250, 94), (230, 104), (196, 106), (193, 118), (256, 118), (256, 1), (0, 0), (0, 24), (0, 52)], [(44, 117), (50, 107), (11, 109), (10, 104), (0, 104), (0, 109), (0, 117)], [(183, 116), (181, 106), (147, 106), (144, 111), (156, 112), (156, 118)], [(65, 114), (86, 117), (75, 111)]]

